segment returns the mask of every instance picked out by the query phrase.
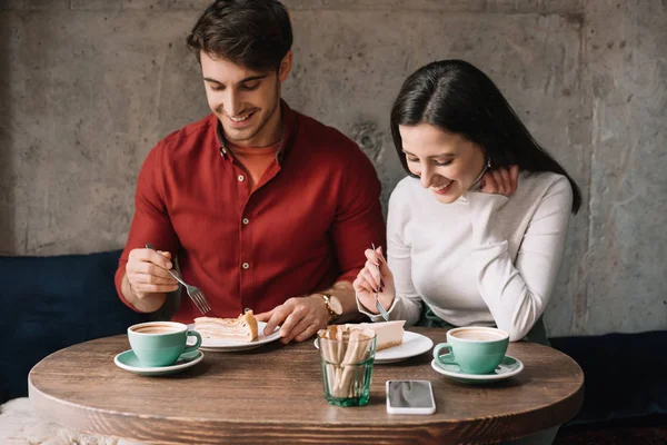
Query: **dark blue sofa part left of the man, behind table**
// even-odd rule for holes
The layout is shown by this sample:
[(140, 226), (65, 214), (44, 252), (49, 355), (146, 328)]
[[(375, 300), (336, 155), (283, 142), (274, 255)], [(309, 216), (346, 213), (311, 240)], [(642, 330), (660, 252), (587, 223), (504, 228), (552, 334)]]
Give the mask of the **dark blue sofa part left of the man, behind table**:
[(0, 400), (28, 394), (28, 373), (47, 355), (141, 323), (118, 298), (120, 250), (53, 257), (0, 257)]

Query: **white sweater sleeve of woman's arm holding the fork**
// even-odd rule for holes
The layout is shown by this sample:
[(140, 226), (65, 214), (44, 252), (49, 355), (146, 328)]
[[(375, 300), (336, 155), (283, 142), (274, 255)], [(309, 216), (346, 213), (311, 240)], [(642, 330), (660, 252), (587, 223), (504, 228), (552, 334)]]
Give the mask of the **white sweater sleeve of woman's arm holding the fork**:
[[(405, 187), (397, 187), (389, 199), (387, 215), (387, 263), (394, 274), (396, 298), (387, 309), (390, 320), (405, 319), (406, 326), (414, 326), (419, 320), (421, 313), (421, 297), (412, 284), (411, 246), (406, 239), (406, 226), (409, 218), (409, 208), (404, 205)], [(369, 313), (357, 299), (359, 312), (366, 314), (372, 322), (384, 322), (381, 315)]]

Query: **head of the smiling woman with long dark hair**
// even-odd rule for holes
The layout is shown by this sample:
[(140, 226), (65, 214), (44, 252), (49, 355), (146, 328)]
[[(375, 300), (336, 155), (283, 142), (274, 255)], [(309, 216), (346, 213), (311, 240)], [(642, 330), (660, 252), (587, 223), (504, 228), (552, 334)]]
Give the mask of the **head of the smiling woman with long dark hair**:
[(481, 178), (482, 168), (499, 169), (502, 176), (502, 167), (516, 165), (521, 171), (565, 176), (574, 192), (573, 211), (581, 204), (575, 181), (532, 138), (494, 82), (462, 60), (432, 62), (406, 79), (391, 110), (391, 136), (408, 174), (427, 175), (425, 187), (436, 167), (445, 182), (461, 182), (450, 201), (470, 189), (470, 178)]

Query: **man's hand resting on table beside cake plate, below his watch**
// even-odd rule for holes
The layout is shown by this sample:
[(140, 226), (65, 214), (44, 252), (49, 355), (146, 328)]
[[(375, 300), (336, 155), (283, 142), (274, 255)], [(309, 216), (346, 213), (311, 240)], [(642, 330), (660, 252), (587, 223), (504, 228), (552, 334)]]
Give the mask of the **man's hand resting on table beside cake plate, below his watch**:
[(270, 335), (280, 327), (280, 342), (288, 344), (292, 339), (303, 342), (319, 329), (327, 327), (329, 310), (320, 295), (292, 297), (268, 313), (255, 316), (258, 322), (267, 322), (265, 335)]

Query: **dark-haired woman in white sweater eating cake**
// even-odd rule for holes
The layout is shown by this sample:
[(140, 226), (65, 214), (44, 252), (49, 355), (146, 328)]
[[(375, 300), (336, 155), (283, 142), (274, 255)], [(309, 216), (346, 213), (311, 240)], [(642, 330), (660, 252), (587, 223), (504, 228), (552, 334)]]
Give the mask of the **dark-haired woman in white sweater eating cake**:
[[(494, 82), (460, 60), (404, 83), (391, 132), (409, 177), (389, 199), (381, 247), (354, 283), (359, 310), (421, 326), (498, 326), (547, 344), (541, 316), (556, 283), (577, 185), (530, 136)], [(378, 281), (377, 265), (381, 280)]]

